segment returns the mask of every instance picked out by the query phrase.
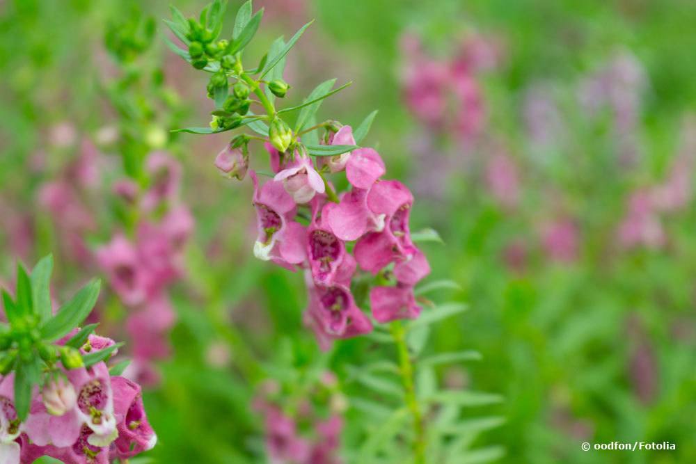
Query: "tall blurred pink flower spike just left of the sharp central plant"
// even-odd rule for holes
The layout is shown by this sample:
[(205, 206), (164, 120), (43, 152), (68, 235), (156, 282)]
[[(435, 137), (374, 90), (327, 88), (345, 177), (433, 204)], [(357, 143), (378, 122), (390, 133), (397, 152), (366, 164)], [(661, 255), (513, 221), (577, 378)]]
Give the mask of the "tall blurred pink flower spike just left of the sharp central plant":
[(97, 262), (124, 305), (131, 310), (126, 328), (132, 337), (134, 362), (129, 375), (141, 383), (157, 382), (153, 360), (168, 356), (168, 330), (175, 314), (167, 287), (182, 274), (181, 252), (193, 218), (178, 200), (180, 165), (164, 152), (152, 152), (145, 161), (151, 179), (144, 191), (130, 180), (114, 185), (114, 191), (141, 219), (134, 239), (116, 233), (97, 250)]

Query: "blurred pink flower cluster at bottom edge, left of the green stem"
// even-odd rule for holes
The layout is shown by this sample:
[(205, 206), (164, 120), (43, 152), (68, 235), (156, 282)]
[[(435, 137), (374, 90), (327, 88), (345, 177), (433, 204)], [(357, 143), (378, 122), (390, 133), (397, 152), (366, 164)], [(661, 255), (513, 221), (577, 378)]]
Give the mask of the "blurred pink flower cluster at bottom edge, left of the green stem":
[[(337, 392), (336, 378), (325, 372), (318, 388), (308, 395), (311, 399), (326, 397), (328, 405), (315, 405), (303, 398), (294, 413), (283, 410), (273, 399), (278, 393), (278, 385), (267, 382), (263, 394), (255, 400), (254, 406), (264, 416), (266, 450), (274, 464), (340, 464), (340, 435), (344, 422), (342, 412), (345, 401)], [(316, 390), (316, 389), (315, 389)], [(319, 409), (326, 409), (322, 412)]]

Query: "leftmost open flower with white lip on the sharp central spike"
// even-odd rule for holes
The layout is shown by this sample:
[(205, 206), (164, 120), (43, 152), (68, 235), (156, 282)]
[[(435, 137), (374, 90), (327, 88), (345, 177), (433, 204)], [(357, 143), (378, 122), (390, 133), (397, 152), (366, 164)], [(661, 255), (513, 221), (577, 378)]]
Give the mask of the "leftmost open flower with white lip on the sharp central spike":
[(295, 202), (280, 182), (269, 181), (259, 188), (256, 173), (252, 170), (250, 175), (259, 232), (254, 243), (254, 255), (292, 269), (293, 264), (300, 264), (306, 256), (306, 230), (292, 221), (296, 213)]

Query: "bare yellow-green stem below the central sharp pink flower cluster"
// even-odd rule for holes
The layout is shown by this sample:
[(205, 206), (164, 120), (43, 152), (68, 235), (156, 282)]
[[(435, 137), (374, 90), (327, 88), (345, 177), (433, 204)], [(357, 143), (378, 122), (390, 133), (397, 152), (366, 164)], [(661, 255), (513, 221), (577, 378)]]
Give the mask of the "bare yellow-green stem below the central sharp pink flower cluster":
[(406, 406), (413, 417), (413, 456), (415, 464), (425, 464), (425, 426), (420, 413), (420, 406), (416, 398), (416, 387), (413, 384), (413, 362), (406, 346), (406, 330), (401, 321), (394, 321), (390, 326), (392, 337), (399, 354), (399, 371), (404, 384)]

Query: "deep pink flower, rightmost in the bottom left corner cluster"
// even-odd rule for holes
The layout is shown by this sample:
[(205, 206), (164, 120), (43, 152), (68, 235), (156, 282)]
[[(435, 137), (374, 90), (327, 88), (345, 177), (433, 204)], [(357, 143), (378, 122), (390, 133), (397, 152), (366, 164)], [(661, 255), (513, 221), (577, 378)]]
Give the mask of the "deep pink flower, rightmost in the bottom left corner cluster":
[(143, 408), (140, 385), (123, 377), (112, 377), (113, 410), (116, 415), (118, 438), (111, 447), (112, 458), (129, 458), (157, 443)]

